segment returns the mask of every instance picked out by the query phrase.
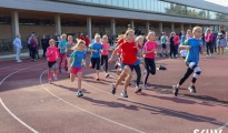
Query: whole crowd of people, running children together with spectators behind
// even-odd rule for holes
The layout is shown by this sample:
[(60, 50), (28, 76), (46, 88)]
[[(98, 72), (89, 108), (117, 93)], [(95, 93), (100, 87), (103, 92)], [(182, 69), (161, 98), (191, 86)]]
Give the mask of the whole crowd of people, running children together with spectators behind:
[[(187, 64), (187, 71), (180, 81), (172, 86), (174, 94), (177, 96), (179, 86), (194, 73), (189, 91), (196, 93), (195, 83), (201, 73), (198, 65), (199, 54), (204, 54), (206, 50), (206, 57), (212, 57), (212, 54), (224, 54), (225, 47), (227, 45), (226, 32), (224, 27), (220, 27), (218, 34), (211, 32), (211, 29), (207, 29), (202, 33), (202, 28), (195, 27), (192, 31), (189, 29), (185, 34), (178, 35), (175, 32), (170, 33), (170, 37), (166, 32), (162, 32), (159, 40), (156, 38), (153, 31), (149, 31), (146, 37), (136, 35), (131, 28), (128, 28), (126, 33), (119, 35), (116, 48), (110, 49), (110, 41), (108, 35), (95, 34), (92, 41), (88, 40), (82, 33), (75, 39), (72, 35), (63, 33), (58, 39), (48, 39), (43, 37), (41, 44), (43, 48), (43, 58), (48, 60), (48, 79), (49, 83), (53, 80), (58, 80), (58, 73), (62, 72), (62, 62), (65, 71), (69, 73), (70, 80), (73, 82), (77, 78), (78, 81), (78, 96), (83, 96), (81, 89), (82, 68), (87, 65), (86, 57), (90, 53), (89, 66), (95, 69), (95, 80), (99, 83), (100, 71), (105, 72), (105, 78), (109, 76), (109, 64), (113, 61), (115, 57), (118, 61), (115, 64), (117, 69), (118, 79), (111, 84), (111, 93), (116, 94), (117, 88), (122, 81), (125, 81), (123, 90), (121, 92), (122, 98), (128, 98), (127, 89), (132, 79), (133, 71), (136, 72), (136, 93), (147, 89), (149, 75), (156, 74), (156, 55), (167, 57), (176, 59), (179, 53), (185, 59)], [(158, 51), (158, 43), (161, 43), (161, 50)], [(216, 43), (216, 45), (215, 45)], [(17, 61), (21, 62), (18, 58), (19, 50), (22, 49), (20, 37), (18, 35), (13, 41), (17, 51)], [(28, 45), (30, 50), (31, 61), (36, 61), (38, 55), (38, 39), (36, 33), (32, 33), (28, 39)], [(168, 48), (170, 51), (168, 52)], [(18, 50), (19, 49), (19, 50)], [(112, 52), (112, 53), (110, 53)], [(159, 52), (159, 53), (158, 53)], [(110, 55), (110, 58), (109, 58)], [(51, 74), (52, 73), (52, 74)], [(142, 85), (140, 85), (142, 81)]]

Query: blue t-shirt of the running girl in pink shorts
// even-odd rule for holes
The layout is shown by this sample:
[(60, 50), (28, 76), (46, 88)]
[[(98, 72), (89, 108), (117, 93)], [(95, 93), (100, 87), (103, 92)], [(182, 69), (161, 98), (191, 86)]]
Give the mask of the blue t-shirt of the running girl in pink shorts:
[(70, 66), (81, 68), (82, 60), (86, 58), (86, 51), (73, 51), (70, 55), (70, 58), (72, 59), (72, 63), (70, 64)]

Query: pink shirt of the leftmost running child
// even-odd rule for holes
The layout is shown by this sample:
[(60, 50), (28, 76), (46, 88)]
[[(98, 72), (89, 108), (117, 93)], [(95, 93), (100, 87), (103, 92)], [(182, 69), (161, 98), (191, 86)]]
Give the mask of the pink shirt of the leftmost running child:
[(57, 47), (49, 47), (46, 52), (47, 60), (50, 62), (57, 61), (59, 55), (59, 50)]

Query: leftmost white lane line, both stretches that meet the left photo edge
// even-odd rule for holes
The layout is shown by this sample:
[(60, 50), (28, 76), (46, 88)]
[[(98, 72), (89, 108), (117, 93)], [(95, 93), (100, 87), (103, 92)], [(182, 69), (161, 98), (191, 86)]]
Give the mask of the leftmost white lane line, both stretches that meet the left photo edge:
[[(43, 64), (43, 63), (36, 64), (36, 65), (32, 65), (32, 66), (28, 66), (28, 68), (24, 68), (24, 69), (20, 69), (20, 70), (18, 70), (18, 71), (14, 71), (14, 72), (8, 74), (7, 76), (4, 76), (4, 78), (1, 80), (0, 86), (1, 86), (1, 84), (2, 84), (9, 76), (11, 76), (11, 75), (13, 75), (13, 74), (16, 74), (16, 73), (18, 73), (18, 72), (20, 72), (20, 71), (22, 71), (22, 70), (26, 70), (26, 69), (29, 69), (29, 68), (33, 68), (33, 66), (37, 66), (37, 65), (41, 65), (41, 64)], [(19, 123), (21, 123), (22, 125), (24, 125), (26, 127), (28, 127), (29, 130), (31, 130), (33, 133), (39, 133), (39, 132), (36, 131), (34, 129), (32, 129), (31, 126), (29, 126), (28, 124), (26, 124), (26, 123), (24, 123), (22, 120), (20, 120), (18, 116), (16, 116), (16, 115), (9, 110), (9, 108), (7, 108), (7, 105), (3, 103), (3, 101), (1, 100), (1, 98), (0, 98), (0, 102), (1, 102), (1, 105), (4, 108), (4, 110), (6, 110), (12, 117), (14, 117)]]

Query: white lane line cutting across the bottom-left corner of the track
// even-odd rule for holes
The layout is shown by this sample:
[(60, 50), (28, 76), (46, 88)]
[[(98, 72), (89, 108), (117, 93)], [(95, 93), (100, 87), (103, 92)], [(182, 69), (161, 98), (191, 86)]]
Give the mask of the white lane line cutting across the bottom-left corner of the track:
[(30, 131), (32, 131), (33, 133), (39, 133), (38, 131), (36, 131), (33, 127), (29, 126), (27, 123), (24, 123), (22, 120), (20, 120), (18, 116), (16, 116), (8, 108), (7, 105), (3, 103), (3, 101), (0, 98), (0, 103), (1, 105), (4, 108), (4, 110), (12, 116), (14, 117), (19, 123), (21, 123), (23, 126), (26, 126), (27, 129), (29, 129)]

